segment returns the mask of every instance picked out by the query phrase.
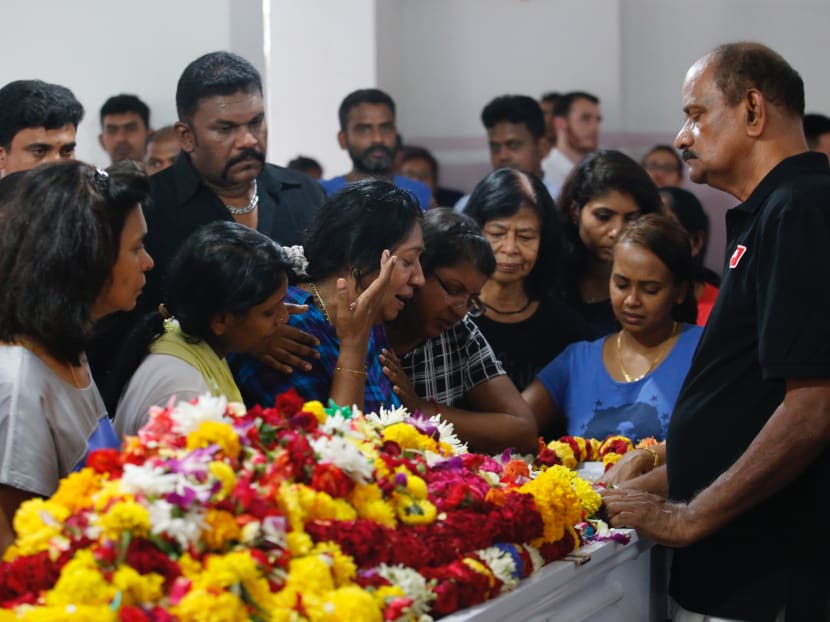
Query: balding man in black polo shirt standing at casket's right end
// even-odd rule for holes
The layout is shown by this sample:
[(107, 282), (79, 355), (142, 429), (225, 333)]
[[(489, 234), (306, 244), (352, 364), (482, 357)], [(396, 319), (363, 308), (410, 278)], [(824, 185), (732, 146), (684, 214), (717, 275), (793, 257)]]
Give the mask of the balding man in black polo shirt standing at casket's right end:
[[(672, 415), (667, 465), (604, 494), (611, 524), (676, 547), (678, 619), (830, 619), (830, 168), (808, 153), (804, 85), (759, 44), (683, 85), (676, 146), (727, 214), (718, 300)], [(684, 617), (685, 616), (685, 617)]]

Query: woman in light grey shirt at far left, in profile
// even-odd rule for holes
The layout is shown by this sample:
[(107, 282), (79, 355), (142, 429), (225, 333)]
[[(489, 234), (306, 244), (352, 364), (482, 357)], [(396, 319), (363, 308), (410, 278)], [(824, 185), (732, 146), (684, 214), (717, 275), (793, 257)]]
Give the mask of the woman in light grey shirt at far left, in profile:
[(18, 506), (55, 492), (91, 449), (118, 447), (84, 348), (93, 323), (130, 310), (144, 250), (146, 175), (81, 162), (27, 173), (0, 221), (0, 552)]

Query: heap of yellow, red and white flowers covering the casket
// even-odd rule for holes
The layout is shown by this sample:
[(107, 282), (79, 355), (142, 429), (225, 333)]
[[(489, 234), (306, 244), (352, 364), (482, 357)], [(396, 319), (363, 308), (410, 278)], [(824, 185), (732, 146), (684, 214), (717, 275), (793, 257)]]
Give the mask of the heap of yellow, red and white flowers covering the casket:
[(467, 453), (439, 418), (293, 392), (155, 409), (87, 464), (15, 516), (0, 622), (425, 621), (563, 557), (600, 505), (563, 466)]

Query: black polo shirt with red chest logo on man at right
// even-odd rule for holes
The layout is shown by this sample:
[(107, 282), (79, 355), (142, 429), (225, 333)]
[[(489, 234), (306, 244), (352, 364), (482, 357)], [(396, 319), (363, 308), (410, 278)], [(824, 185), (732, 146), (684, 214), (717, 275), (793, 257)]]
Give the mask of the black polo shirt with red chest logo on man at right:
[[(827, 158), (782, 161), (726, 223), (723, 283), (669, 425), (675, 500), (693, 498), (744, 453), (783, 401), (786, 380), (830, 377)], [(825, 450), (779, 493), (678, 549), (672, 595), (692, 611), (772, 620), (805, 567), (826, 576), (826, 538), (799, 544), (798, 525), (824, 524), (829, 481)]]

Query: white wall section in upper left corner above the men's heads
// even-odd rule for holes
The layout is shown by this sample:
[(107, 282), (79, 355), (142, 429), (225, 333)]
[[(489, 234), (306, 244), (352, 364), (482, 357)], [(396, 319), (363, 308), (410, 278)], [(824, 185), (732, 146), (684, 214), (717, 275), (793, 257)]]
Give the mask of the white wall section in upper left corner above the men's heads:
[(39, 78), (69, 87), (86, 109), (77, 156), (108, 165), (98, 145), (101, 105), (111, 95), (135, 93), (150, 106), (154, 126), (175, 121), (176, 82), (184, 67), (230, 45), (230, 2), (3, 2), (0, 85)]

